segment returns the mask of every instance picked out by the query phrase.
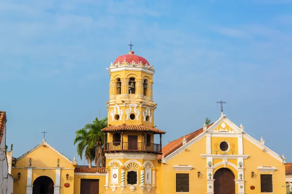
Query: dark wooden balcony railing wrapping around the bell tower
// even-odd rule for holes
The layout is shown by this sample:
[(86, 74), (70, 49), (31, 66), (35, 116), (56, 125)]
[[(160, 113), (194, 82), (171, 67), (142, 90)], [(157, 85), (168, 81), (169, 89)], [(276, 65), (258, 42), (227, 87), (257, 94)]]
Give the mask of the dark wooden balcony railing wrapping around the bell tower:
[(161, 145), (142, 142), (110, 142), (105, 144), (105, 152), (114, 151), (143, 151), (161, 154)]

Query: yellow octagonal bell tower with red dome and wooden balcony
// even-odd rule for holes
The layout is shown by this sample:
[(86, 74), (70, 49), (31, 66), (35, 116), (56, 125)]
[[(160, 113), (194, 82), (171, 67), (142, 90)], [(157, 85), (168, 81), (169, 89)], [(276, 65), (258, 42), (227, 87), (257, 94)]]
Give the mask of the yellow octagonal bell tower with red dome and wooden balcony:
[[(157, 155), (162, 154), (165, 132), (154, 125), (157, 104), (152, 97), (153, 65), (130, 50), (116, 58), (108, 71), (108, 127), (102, 129), (108, 172), (106, 193), (155, 193), (155, 163)], [(159, 144), (154, 143), (157, 135)]]

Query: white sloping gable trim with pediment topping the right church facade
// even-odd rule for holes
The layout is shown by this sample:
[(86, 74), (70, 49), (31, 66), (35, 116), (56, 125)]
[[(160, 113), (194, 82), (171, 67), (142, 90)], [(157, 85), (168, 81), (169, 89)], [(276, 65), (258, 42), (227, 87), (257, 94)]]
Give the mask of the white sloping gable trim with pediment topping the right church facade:
[[(225, 123), (226, 126), (224, 126), (224, 125), (221, 126), (222, 123)], [(222, 129), (222, 130), (220, 130), (220, 129)], [(225, 129), (227, 129), (227, 130), (225, 130)], [(176, 155), (178, 155), (179, 153), (181, 153), (182, 151), (184, 151), (184, 149), (192, 146), (193, 144), (195, 144), (196, 142), (198, 142), (199, 140), (201, 140), (203, 137), (205, 137), (206, 136), (206, 133), (209, 133), (209, 134), (211, 133), (211, 135), (212, 134), (223, 134), (223, 135), (224, 134), (228, 134), (228, 135), (242, 134), (242, 137), (243, 138), (247, 139), (248, 141), (250, 141), (255, 146), (259, 147), (260, 149), (263, 149), (266, 153), (268, 153), (269, 155), (271, 155), (272, 157), (274, 157), (279, 162), (286, 163), (284, 161), (284, 159), (281, 158), (277, 153), (275, 153), (274, 151), (272, 151), (268, 147), (262, 145), (259, 141), (257, 141), (256, 139), (254, 139), (253, 137), (251, 137), (250, 135), (248, 135), (247, 133), (245, 133), (245, 131), (243, 129), (244, 129), (244, 127), (242, 125), (240, 125), (240, 127), (238, 127), (236, 124), (234, 124), (233, 122), (231, 122), (228, 118), (226, 118), (226, 115), (223, 115), (222, 114), (221, 117), (216, 122), (214, 122), (209, 128), (207, 128), (205, 131), (203, 131), (200, 135), (196, 136), (192, 140), (189, 140), (188, 142), (186, 142), (185, 145), (179, 147), (177, 150), (174, 150), (168, 156), (166, 156), (166, 157), (163, 156), (162, 157), (162, 162), (165, 163), (165, 162), (171, 160)]]

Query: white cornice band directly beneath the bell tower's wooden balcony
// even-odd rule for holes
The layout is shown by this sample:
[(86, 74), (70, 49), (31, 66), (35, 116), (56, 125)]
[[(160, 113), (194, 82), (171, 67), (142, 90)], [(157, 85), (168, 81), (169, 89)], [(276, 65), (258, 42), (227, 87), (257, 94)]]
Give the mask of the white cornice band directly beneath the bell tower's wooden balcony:
[(105, 154), (107, 159), (141, 159), (141, 160), (149, 160), (153, 161), (157, 159), (157, 154), (150, 154), (150, 153), (124, 153), (124, 152), (117, 152), (117, 153), (106, 153)]

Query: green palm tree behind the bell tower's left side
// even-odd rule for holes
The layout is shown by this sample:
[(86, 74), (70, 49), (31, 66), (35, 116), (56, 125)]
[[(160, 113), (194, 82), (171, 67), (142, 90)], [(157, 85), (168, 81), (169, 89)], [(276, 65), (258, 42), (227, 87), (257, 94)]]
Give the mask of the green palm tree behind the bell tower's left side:
[(108, 126), (108, 118), (105, 117), (98, 120), (96, 117), (92, 123), (87, 123), (84, 128), (78, 129), (74, 145), (77, 144), (77, 154), (82, 160), (84, 153), (88, 165), (91, 168), (91, 162), (94, 160), (95, 165), (98, 167), (105, 167), (106, 159), (103, 150), (103, 132), (101, 129)]

